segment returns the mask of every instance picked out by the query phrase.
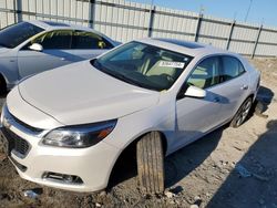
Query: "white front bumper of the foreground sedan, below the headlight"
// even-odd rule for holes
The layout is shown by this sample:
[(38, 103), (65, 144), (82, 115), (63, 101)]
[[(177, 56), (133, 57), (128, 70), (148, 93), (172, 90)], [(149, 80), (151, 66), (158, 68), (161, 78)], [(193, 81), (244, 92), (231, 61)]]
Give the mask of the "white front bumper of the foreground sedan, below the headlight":
[[(7, 129), (17, 137), (11, 138)], [(9, 141), (8, 155), (22, 178), (73, 191), (95, 191), (105, 188), (120, 154), (120, 149), (104, 142), (89, 148), (78, 149), (43, 146), (40, 143), (41, 137), (25, 134), (12, 124), (9, 128), (1, 127), (1, 137)], [(16, 147), (14, 139), (25, 141), (27, 152), (19, 153), (21, 147)], [(82, 183), (45, 178), (45, 173), (78, 176)]]

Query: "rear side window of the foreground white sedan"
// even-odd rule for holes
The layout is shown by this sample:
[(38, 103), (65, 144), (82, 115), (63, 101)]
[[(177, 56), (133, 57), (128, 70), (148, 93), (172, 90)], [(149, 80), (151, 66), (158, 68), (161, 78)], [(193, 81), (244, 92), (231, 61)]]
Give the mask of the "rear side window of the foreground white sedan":
[(222, 70), (223, 81), (235, 79), (245, 72), (243, 64), (236, 58), (223, 56), (222, 60), (223, 60), (223, 70)]

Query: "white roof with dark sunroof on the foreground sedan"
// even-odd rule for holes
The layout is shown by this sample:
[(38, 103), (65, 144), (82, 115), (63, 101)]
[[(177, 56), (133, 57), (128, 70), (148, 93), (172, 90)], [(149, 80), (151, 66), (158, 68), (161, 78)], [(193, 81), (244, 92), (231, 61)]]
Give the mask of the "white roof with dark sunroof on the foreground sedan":
[(146, 38), (136, 41), (191, 56), (204, 56), (209, 54), (227, 54), (237, 56), (237, 54), (235, 53), (217, 49), (208, 44), (176, 40), (176, 39)]

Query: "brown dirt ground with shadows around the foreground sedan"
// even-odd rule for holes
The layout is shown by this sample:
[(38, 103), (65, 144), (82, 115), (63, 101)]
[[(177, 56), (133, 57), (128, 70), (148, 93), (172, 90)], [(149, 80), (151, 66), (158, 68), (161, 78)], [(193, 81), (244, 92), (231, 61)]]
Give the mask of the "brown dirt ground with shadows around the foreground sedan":
[[(224, 126), (168, 156), (164, 195), (143, 195), (127, 158), (105, 191), (74, 194), (21, 179), (0, 155), (0, 207), (277, 208), (277, 60), (250, 62), (261, 71), (258, 98), (268, 117), (254, 114), (239, 128)], [(28, 189), (39, 197), (25, 197)]]

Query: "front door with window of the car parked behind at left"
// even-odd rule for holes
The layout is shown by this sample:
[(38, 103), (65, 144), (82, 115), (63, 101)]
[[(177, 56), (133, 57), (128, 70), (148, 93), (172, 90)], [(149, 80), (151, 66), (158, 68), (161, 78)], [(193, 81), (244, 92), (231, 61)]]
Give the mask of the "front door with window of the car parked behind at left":
[[(47, 32), (23, 46), (18, 53), (20, 77), (78, 61), (71, 50), (72, 33), (72, 30)], [(30, 50), (32, 43), (41, 44), (43, 51)]]

